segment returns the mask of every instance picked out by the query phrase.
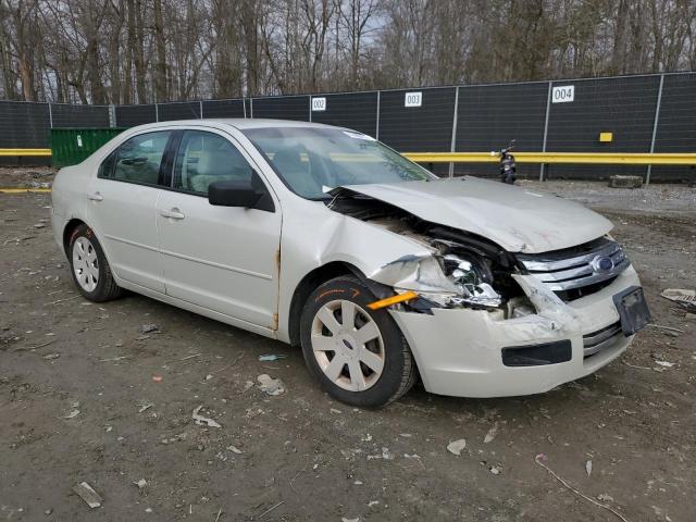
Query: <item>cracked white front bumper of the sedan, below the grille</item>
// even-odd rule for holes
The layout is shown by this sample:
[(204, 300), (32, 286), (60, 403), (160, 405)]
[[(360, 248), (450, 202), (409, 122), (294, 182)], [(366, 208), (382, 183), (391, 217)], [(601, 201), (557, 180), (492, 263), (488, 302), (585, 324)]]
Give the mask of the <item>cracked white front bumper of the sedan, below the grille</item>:
[[(459, 397), (505, 397), (547, 391), (560, 384), (596, 372), (631, 344), (622, 333), (585, 357), (585, 344), (594, 333), (620, 318), (612, 296), (639, 286), (629, 266), (601, 290), (563, 302), (532, 276), (515, 276), (537, 313), (498, 319), (499, 312), (470, 309), (433, 309), (433, 314), (391, 310), (390, 313), (418, 363), (425, 389)], [(583, 336), (586, 338), (583, 339)], [(506, 366), (502, 349), (570, 340), (571, 359), (536, 366)]]

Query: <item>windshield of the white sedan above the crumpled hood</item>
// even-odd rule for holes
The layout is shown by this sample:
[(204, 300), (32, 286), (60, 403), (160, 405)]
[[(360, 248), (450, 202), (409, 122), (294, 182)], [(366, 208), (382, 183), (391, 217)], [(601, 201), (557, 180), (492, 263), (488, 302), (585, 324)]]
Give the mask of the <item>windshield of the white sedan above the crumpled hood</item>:
[(308, 199), (341, 185), (433, 179), (425, 169), (364, 134), (339, 128), (251, 128), (244, 134), (283, 182)]

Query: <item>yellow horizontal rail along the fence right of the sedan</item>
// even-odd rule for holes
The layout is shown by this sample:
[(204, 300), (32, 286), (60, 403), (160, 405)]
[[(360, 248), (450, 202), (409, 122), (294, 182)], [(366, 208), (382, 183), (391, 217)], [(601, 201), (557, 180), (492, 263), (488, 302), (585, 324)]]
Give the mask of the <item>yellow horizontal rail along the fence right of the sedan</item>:
[[(594, 165), (696, 165), (696, 153), (649, 152), (512, 152), (517, 163)], [(405, 152), (417, 163), (498, 163), (490, 152)]]

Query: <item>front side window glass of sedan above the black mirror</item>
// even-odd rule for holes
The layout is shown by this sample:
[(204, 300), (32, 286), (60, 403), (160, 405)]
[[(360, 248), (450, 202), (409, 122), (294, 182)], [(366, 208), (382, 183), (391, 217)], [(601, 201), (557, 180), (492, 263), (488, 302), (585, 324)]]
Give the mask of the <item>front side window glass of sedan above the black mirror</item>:
[(251, 183), (253, 170), (227, 139), (213, 133), (186, 130), (174, 164), (174, 188), (202, 196), (213, 182)]

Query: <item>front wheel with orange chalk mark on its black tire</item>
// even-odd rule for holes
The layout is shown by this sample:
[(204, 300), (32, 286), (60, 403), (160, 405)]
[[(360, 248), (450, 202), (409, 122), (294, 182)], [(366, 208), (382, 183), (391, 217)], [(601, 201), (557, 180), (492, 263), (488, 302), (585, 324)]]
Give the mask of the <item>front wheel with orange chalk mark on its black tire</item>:
[[(408, 343), (389, 313), (368, 308), (375, 300), (359, 278), (340, 276), (312, 293), (300, 319), (310, 373), (332, 397), (362, 408), (397, 400), (418, 375)], [(352, 321), (345, 324), (348, 314)]]

